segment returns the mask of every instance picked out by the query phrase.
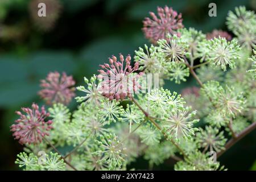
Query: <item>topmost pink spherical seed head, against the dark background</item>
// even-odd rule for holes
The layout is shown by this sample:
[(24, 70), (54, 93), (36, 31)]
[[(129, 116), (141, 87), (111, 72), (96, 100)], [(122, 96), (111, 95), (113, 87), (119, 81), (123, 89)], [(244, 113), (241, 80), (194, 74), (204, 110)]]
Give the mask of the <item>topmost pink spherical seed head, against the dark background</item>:
[(159, 39), (167, 39), (167, 34), (177, 34), (179, 28), (183, 28), (181, 13), (178, 15), (176, 11), (172, 10), (172, 7), (165, 6), (158, 7), (158, 16), (155, 13), (150, 12), (150, 18), (143, 20), (142, 31), (147, 39), (152, 43), (156, 43)]

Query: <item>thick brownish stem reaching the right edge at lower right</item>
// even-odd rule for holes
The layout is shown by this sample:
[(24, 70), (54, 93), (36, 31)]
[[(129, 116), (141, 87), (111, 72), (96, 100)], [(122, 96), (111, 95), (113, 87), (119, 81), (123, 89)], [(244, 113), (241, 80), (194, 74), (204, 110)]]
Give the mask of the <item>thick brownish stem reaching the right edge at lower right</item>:
[(256, 129), (256, 122), (253, 122), (250, 126), (248, 126), (240, 134), (236, 135), (236, 138), (230, 139), (228, 141), (228, 143), (226, 143), (226, 145), (225, 145), (225, 150), (218, 152), (217, 158), (220, 157), (222, 154), (224, 154), (225, 151), (227, 151), (230, 147), (232, 147), (235, 143), (237, 143), (239, 140), (241, 140), (243, 137), (245, 137), (247, 134), (249, 134), (254, 129)]

